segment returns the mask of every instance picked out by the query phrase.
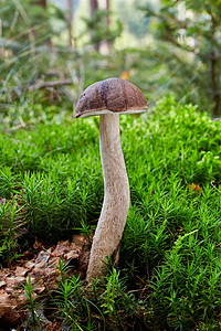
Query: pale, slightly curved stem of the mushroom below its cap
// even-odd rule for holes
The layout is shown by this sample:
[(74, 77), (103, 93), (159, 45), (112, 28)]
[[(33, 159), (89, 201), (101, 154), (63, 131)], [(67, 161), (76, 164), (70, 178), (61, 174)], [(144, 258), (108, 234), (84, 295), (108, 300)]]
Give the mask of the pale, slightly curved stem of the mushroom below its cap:
[(87, 282), (103, 274), (105, 258), (118, 256), (118, 248), (129, 209), (129, 182), (120, 146), (119, 115), (101, 116), (99, 151), (104, 174), (104, 202), (97, 223)]

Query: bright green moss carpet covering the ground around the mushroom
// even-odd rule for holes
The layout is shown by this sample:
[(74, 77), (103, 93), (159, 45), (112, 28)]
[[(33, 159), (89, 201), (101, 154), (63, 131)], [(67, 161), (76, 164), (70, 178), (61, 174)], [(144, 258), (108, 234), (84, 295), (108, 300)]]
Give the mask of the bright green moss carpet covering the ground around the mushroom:
[[(10, 111), (0, 124), (1, 197), (24, 207), (41, 239), (90, 233), (103, 202), (98, 119), (54, 106), (20, 111), (23, 127)], [(90, 295), (80, 280), (63, 281), (54, 305), (73, 330), (219, 330), (221, 121), (169, 96), (140, 117), (122, 116), (120, 131), (131, 203), (119, 265)], [(21, 250), (6, 215), (2, 263)]]

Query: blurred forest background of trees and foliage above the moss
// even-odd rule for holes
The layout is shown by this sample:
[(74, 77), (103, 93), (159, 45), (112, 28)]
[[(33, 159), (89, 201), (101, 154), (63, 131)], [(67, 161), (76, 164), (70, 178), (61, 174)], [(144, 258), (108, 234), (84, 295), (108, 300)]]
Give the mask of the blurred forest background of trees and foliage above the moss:
[(69, 111), (86, 86), (117, 76), (149, 106), (172, 93), (218, 117), (220, 18), (220, 0), (1, 0), (1, 114), (39, 103)]

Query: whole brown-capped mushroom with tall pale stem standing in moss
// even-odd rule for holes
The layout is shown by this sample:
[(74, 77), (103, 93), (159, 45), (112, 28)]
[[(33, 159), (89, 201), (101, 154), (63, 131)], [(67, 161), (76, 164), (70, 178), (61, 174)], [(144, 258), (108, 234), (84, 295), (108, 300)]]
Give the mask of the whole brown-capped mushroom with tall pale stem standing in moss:
[(134, 84), (108, 78), (81, 95), (75, 117), (101, 115), (99, 151), (104, 175), (104, 202), (93, 238), (86, 281), (103, 275), (105, 258), (118, 259), (119, 243), (129, 210), (129, 182), (120, 146), (119, 115), (147, 110), (141, 90)]

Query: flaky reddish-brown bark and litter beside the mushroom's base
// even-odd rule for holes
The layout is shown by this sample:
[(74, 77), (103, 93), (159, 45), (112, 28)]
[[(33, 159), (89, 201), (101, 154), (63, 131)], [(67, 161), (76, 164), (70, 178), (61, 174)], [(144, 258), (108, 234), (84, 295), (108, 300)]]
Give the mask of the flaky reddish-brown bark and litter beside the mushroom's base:
[(72, 241), (59, 242), (48, 249), (35, 241), (33, 248), (39, 249), (34, 258), (0, 270), (0, 325), (17, 327), (25, 319), (22, 308), (28, 303), (28, 297), (22, 285), (29, 277), (34, 300), (48, 298), (59, 287), (61, 259), (64, 266), (70, 266), (66, 275), (85, 278), (91, 243), (84, 235), (74, 235)]

